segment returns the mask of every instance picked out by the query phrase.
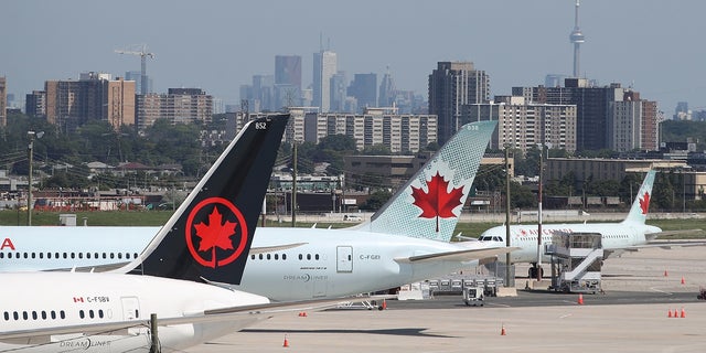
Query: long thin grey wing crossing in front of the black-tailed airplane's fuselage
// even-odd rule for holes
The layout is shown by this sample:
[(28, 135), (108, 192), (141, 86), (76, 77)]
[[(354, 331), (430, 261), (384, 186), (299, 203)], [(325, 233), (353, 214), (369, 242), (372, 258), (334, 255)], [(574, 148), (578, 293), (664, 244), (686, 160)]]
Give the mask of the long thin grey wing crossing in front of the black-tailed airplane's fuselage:
[[(375, 298), (392, 299), (395, 296), (376, 296)], [(361, 297), (355, 297), (360, 300)], [(269, 319), (274, 315), (295, 312), (295, 311), (321, 311), (333, 309), (341, 302), (350, 299), (319, 299), (295, 302), (272, 302), (257, 306), (242, 306), (232, 308), (222, 308), (206, 310), (201, 312), (188, 313), (184, 317), (176, 318), (157, 318), (158, 325), (174, 324), (193, 324), (220, 321), (248, 321), (255, 323), (259, 320)], [(60, 334), (84, 334), (84, 335), (106, 335), (106, 334), (127, 334), (128, 329), (149, 328), (150, 320), (130, 320), (109, 323), (89, 323), (79, 325), (66, 325), (60, 328), (2, 331), (0, 332), (0, 342), (18, 343), (18, 344), (42, 344), (51, 342), (53, 335)]]

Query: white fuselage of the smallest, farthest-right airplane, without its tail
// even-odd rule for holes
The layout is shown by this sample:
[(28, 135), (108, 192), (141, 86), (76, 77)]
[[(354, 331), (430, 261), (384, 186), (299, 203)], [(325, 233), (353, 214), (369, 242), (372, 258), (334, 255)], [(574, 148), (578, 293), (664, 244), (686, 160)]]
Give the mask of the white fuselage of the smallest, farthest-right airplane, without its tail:
[[(555, 233), (599, 233), (601, 235), (601, 246), (605, 250), (622, 250), (631, 246), (643, 245), (648, 242), (648, 235), (661, 232), (655, 226), (638, 223), (574, 223), (574, 224), (544, 224), (542, 225), (542, 254), (544, 247), (552, 244)], [(518, 249), (510, 253), (512, 263), (536, 263), (537, 261), (537, 225), (511, 225), (510, 246)], [(494, 246), (504, 246), (506, 229), (505, 226), (496, 226), (483, 232), (479, 240)], [(504, 257), (500, 257), (504, 261)], [(548, 263), (549, 256), (544, 255), (542, 260)]]

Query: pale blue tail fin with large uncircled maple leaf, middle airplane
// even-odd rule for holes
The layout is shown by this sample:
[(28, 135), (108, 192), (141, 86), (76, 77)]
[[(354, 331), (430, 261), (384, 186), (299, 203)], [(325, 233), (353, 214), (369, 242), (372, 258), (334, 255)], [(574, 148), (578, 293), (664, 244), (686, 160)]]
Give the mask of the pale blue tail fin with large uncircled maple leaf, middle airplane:
[(449, 242), (496, 125), (462, 126), (370, 223), (357, 228)]

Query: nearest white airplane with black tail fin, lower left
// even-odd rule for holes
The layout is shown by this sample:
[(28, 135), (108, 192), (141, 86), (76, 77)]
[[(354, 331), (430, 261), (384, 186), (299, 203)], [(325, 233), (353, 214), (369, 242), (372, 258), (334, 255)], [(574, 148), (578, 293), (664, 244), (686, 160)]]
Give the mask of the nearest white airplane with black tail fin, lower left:
[(248, 122), (124, 270), (0, 272), (0, 352), (181, 352), (281, 310), (210, 282), (239, 281), (287, 120)]

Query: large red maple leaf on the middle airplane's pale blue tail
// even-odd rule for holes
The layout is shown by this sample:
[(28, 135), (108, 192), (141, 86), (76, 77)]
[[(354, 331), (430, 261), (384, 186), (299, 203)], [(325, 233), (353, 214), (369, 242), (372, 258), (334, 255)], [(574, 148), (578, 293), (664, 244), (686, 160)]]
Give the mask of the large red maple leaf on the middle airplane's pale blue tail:
[(438, 171), (427, 182), (428, 192), (425, 193), (421, 188), (411, 186), (411, 196), (415, 197), (413, 204), (421, 208), (419, 217), (436, 217), (437, 232), (439, 232), (439, 217), (456, 217), (453, 208), (461, 204), (461, 197), (463, 196), (463, 188), (453, 188), (450, 192), (447, 192), (448, 186), (449, 182), (443, 180), (443, 176)]

